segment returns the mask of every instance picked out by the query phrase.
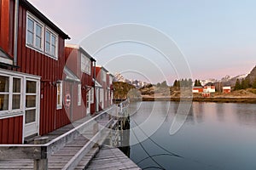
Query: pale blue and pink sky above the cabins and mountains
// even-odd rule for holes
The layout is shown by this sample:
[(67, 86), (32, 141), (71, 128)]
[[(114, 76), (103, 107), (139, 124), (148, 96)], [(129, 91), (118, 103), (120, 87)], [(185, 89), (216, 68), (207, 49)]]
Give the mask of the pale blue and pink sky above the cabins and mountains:
[(127, 78), (172, 84), (235, 77), (256, 65), (254, 0), (29, 2), (71, 37), (67, 43)]

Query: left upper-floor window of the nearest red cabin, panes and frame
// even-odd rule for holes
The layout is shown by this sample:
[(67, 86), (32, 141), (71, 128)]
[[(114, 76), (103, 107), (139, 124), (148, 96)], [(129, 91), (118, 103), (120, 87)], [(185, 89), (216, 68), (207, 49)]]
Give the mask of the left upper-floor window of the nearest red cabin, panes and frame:
[(43, 51), (43, 29), (44, 26), (38, 20), (30, 14), (27, 14), (26, 44), (32, 48)]

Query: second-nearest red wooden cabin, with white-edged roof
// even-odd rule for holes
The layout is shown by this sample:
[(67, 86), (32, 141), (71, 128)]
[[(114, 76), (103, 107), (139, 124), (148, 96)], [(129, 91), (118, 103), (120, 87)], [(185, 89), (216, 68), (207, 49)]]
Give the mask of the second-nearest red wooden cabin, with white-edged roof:
[[(96, 59), (93, 59), (90, 54), (86, 53), (83, 48), (78, 45), (66, 45), (65, 47), (66, 67), (78, 77), (79, 81), (66, 81), (66, 89), (64, 95), (71, 94), (72, 103), (68, 108), (70, 115), (77, 114), (77, 120), (84, 116), (95, 112), (95, 69), (93, 65)], [(65, 78), (64, 78), (65, 79)], [(71, 89), (71, 86), (72, 89)]]

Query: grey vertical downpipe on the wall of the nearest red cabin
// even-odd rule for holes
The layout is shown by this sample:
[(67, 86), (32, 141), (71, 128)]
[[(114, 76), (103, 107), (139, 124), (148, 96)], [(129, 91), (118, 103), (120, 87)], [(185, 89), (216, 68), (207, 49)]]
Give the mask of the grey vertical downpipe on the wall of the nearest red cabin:
[(18, 31), (19, 31), (19, 0), (15, 0), (15, 47), (14, 47), (14, 65), (17, 65), (18, 58)]

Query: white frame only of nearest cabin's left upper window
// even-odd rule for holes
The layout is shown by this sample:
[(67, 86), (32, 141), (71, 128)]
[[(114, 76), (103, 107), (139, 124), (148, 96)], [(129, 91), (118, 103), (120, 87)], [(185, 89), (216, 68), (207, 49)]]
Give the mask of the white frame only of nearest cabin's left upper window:
[[(28, 42), (28, 19), (32, 20), (34, 22), (34, 28), (33, 28), (33, 43)], [(41, 26), (42, 32), (41, 32), (41, 48), (38, 48), (36, 46), (36, 27)], [(44, 24), (38, 20), (35, 16), (33, 16), (30, 13), (26, 13), (26, 47), (33, 48), (38, 52), (44, 52)]]

